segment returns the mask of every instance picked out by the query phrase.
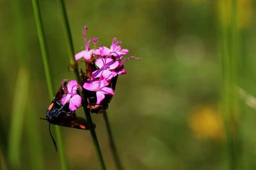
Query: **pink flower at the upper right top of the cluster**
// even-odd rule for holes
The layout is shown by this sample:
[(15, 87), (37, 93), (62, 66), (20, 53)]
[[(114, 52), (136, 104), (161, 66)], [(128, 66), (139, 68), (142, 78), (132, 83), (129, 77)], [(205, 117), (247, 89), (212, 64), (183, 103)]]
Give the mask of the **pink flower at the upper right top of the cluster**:
[(119, 43), (122, 43), (122, 42), (117, 41), (116, 38), (113, 38), (112, 45), (110, 46), (110, 48), (108, 48), (106, 46), (102, 46), (99, 48), (100, 55), (102, 55), (102, 56), (114, 55), (115, 57), (121, 58), (122, 55), (128, 54), (129, 50), (122, 49), (122, 46), (118, 45)]

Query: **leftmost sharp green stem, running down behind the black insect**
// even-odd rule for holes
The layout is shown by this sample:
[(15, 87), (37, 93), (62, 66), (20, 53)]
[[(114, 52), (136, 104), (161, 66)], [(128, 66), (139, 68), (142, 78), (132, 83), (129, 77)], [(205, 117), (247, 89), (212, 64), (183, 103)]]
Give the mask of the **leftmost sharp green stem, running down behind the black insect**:
[[(45, 70), (45, 76), (46, 76), (47, 86), (49, 90), (49, 96), (50, 96), (50, 99), (52, 100), (52, 98), (54, 97), (53, 88), (52, 88), (52, 76), (51, 76), (51, 71), (49, 67), (48, 53), (47, 53), (47, 48), (45, 43), (45, 35), (44, 35), (44, 29), (42, 25), (42, 19), (40, 15), (38, 0), (32, 0), (32, 4), (33, 4), (34, 15), (35, 15), (36, 29), (38, 31), (38, 39), (39, 39), (40, 48), (42, 52), (42, 59), (44, 62), (44, 70)], [(61, 169), (66, 170), (68, 169), (68, 166), (65, 158), (63, 143), (61, 140), (60, 127), (55, 126), (55, 131), (57, 136), (57, 145), (60, 153)]]

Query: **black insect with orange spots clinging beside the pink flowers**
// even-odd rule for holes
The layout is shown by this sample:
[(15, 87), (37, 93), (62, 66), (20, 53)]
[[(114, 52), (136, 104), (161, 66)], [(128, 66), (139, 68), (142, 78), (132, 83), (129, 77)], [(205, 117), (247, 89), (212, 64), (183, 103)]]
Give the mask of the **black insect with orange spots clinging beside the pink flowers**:
[[(89, 130), (89, 125), (86, 120), (81, 117), (76, 117), (76, 111), (71, 111), (68, 108), (68, 103), (65, 105), (61, 104), (61, 98), (65, 94), (65, 89), (67, 89), (67, 81), (63, 81), (63, 85), (58, 90), (56, 96), (52, 99), (52, 102), (46, 111), (46, 118), (41, 118), (49, 122), (49, 132), (56, 151), (57, 146), (51, 134), (51, 124)], [(93, 128), (95, 128), (95, 125), (93, 125)]]

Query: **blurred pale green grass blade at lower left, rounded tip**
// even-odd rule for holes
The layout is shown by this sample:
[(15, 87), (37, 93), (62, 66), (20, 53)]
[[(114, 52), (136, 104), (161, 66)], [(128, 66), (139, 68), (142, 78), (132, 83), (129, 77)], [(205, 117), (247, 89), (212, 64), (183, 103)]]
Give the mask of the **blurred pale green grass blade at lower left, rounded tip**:
[(12, 169), (19, 169), (20, 164), (20, 143), (26, 108), (26, 101), (29, 89), (29, 74), (26, 69), (20, 68), (15, 93), (13, 97), (12, 120), (10, 125), (10, 136), (8, 143), (8, 160)]

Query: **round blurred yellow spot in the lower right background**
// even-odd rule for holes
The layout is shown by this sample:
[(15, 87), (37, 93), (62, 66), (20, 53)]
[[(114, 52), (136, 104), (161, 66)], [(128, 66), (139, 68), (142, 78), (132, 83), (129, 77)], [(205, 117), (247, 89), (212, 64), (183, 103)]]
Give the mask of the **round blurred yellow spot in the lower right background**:
[(218, 112), (206, 106), (196, 107), (189, 117), (189, 127), (199, 139), (223, 139), (223, 125)]

